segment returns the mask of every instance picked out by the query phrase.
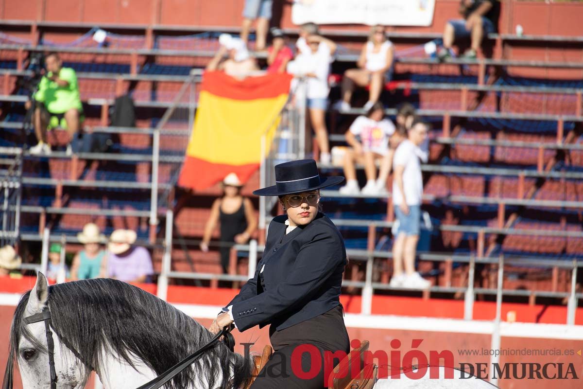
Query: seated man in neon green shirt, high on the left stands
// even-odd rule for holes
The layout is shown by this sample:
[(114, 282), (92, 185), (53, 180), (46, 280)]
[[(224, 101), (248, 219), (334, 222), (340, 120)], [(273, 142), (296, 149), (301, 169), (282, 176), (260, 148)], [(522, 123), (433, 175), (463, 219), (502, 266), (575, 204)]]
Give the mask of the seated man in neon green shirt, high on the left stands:
[[(34, 110), (34, 134), (38, 144), (30, 148), (31, 154), (49, 154), (51, 146), (47, 143), (47, 131), (52, 128), (65, 128), (71, 139), (79, 131), (83, 106), (79, 97), (79, 85), (75, 71), (62, 66), (61, 58), (56, 52), (45, 57), (47, 74), (38, 84), (34, 94), (37, 101)], [(30, 101), (26, 104), (30, 107)], [(67, 153), (72, 153), (71, 145)]]

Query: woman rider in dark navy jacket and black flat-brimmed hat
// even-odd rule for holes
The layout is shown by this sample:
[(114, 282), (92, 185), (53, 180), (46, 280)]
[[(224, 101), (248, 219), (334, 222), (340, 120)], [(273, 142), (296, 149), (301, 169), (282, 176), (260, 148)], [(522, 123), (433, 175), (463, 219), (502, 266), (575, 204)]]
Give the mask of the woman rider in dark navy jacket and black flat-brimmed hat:
[[(346, 248), (336, 226), (319, 211), (319, 190), (340, 184), (344, 177), (321, 177), (316, 162), (307, 159), (276, 165), (275, 180), (276, 185), (253, 193), (278, 196), (285, 215), (269, 223), (254, 277), (209, 330), (216, 334), (233, 323), (239, 331), (271, 325), (269, 340), (275, 353), (253, 389), (328, 387), (324, 363), (313, 379), (305, 380), (293, 373), (297, 369), (291, 368), (291, 355), (298, 345), (315, 346), (321, 357), (326, 351), (349, 352), (340, 304)], [(311, 360), (314, 354), (308, 354), (300, 353), (301, 368), (314, 372), (318, 364)]]

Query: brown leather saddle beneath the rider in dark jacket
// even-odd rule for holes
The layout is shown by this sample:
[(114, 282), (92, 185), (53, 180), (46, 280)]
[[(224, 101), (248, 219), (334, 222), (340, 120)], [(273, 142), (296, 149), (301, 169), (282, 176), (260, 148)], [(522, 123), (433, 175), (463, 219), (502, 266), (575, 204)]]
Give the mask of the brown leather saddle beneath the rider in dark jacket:
[[(363, 341), (359, 348), (353, 349), (356, 353), (350, 352), (340, 363), (332, 370), (331, 376), (328, 382), (332, 381), (332, 386), (329, 389), (373, 389), (374, 383), (377, 380), (377, 366), (373, 363), (368, 363), (364, 365), (364, 351), (368, 350), (369, 342)], [(251, 381), (244, 387), (244, 389), (249, 389), (254, 383), (255, 378), (258, 376), (261, 369), (264, 368), (273, 350), (271, 346), (266, 345), (263, 348), (261, 355), (253, 356), (253, 374)], [(352, 355), (359, 355), (359, 360), (353, 360)], [(352, 372), (353, 363), (358, 363), (359, 366), (363, 366), (360, 373), (356, 377), (352, 377), (350, 372)], [(336, 374), (340, 372), (341, 366), (346, 366), (346, 374), (343, 377), (336, 377)], [(332, 379), (333, 377), (333, 379)]]

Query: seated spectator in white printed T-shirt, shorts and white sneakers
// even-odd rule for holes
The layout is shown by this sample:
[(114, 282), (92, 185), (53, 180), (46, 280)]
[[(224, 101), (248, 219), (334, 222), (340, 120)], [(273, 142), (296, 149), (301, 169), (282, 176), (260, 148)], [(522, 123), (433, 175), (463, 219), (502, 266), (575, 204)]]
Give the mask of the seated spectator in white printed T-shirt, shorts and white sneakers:
[(346, 142), (352, 149), (346, 150), (344, 158), (346, 185), (340, 188), (340, 193), (357, 195), (361, 192), (359, 182), (356, 180), (354, 163), (364, 164), (367, 183), (362, 189), (362, 194), (380, 194), (385, 187), (385, 181), (377, 182), (375, 162), (384, 159), (389, 153), (389, 137), (394, 134), (395, 125), (384, 116), (384, 106), (377, 101), (366, 115), (357, 117), (346, 132)]

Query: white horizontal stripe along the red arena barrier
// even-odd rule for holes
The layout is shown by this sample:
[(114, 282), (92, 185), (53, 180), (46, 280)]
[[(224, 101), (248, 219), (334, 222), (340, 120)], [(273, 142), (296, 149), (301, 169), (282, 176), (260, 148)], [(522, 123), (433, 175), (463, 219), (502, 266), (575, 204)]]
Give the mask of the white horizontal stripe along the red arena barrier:
[[(0, 293), (0, 305), (16, 306), (19, 294)], [(194, 318), (213, 319), (217, 317), (222, 307), (202, 304), (172, 304), (188, 316)], [(346, 327), (370, 328), (374, 330), (402, 330), (454, 332), (462, 334), (491, 335), (494, 331), (493, 321), (463, 320), (436, 317), (411, 317), (394, 315), (363, 315), (347, 313), (344, 317)], [(583, 340), (583, 325), (568, 326), (566, 324), (540, 323), (507, 323), (500, 324), (500, 334), (512, 338), (541, 338)]]

